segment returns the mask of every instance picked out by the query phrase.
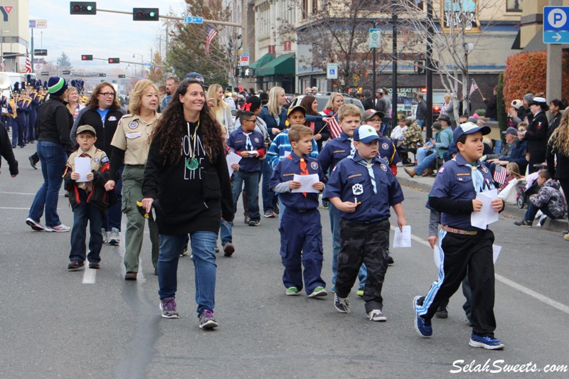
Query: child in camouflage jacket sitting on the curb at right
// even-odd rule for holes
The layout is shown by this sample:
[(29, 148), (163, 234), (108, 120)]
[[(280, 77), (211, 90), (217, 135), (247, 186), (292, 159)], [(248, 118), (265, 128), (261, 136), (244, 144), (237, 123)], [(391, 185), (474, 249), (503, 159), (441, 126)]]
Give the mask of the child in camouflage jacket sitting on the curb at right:
[(565, 215), (565, 199), (559, 191), (559, 183), (551, 179), (547, 170), (539, 171), (537, 182), (541, 186), (539, 192), (529, 197), (526, 215), (514, 224), (531, 228), (538, 210), (552, 219), (563, 218)]

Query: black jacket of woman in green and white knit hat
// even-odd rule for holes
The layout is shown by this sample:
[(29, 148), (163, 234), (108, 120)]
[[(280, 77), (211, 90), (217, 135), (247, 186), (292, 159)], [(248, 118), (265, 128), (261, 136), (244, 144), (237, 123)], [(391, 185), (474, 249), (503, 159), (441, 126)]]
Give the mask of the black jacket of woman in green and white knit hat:
[(69, 131), (73, 126), (73, 116), (60, 97), (50, 96), (38, 110), (38, 141), (60, 144), (68, 154), (73, 152)]

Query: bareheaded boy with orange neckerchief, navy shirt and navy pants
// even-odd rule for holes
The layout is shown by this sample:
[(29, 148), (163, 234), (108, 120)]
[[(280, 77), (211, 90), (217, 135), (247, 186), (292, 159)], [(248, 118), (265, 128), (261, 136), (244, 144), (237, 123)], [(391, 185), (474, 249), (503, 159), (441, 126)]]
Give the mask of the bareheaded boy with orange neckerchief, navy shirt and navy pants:
[[(323, 249), (322, 225), (318, 212), (318, 195), (324, 190), (324, 174), (318, 161), (310, 157), (312, 130), (293, 125), (288, 132), (292, 153), (278, 161), (269, 181), (269, 188), (279, 193), (285, 212), (280, 223), (280, 255), (285, 272), (282, 282), (288, 296), (302, 290), (302, 278), (308, 297), (323, 297), (326, 282), (321, 278)], [(301, 188), (299, 176), (311, 176), (312, 186)], [(297, 190), (305, 189), (306, 192)], [(304, 265), (304, 272), (302, 272)]]

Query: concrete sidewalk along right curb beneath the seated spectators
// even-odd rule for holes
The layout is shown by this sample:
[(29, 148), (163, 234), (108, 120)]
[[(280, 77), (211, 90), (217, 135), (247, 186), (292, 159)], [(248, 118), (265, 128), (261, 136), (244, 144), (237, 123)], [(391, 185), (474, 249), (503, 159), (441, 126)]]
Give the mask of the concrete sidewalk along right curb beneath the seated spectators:
[[(408, 168), (413, 168), (413, 166), (407, 166)], [(432, 183), (435, 181), (435, 175), (427, 176), (426, 178), (422, 176), (415, 176), (411, 178), (405, 172), (405, 166), (397, 166), (397, 179), (401, 186), (406, 186), (410, 188), (418, 189), (419, 191), (425, 192), (425, 203), (427, 203), (427, 193), (430, 192)], [(521, 220), (523, 215), (526, 213), (526, 208), (520, 209), (518, 205), (506, 204), (506, 208), (502, 211), (501, 215), (504, 215), (512, 219), (512, 223), (516, 220)], [(536, 228), (536, 222), (533, 223), (533, 228)], [(561, 232), (563, 230), (569, 229), (569, 223), (566, 218), (561, 220), (551, 220), (547, 218), (546, 222), (543, 223), (541, 227), (546, 230), (551, 230), (553, 232)]]

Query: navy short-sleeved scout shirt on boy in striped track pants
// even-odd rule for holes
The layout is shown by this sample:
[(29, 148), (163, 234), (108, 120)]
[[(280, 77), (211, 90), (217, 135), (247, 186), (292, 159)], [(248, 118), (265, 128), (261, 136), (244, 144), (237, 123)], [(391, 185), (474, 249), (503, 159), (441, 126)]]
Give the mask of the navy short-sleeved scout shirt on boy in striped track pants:
[[(489, 169), (480, 161), (477, 161), (475, 166), (484, 176), (484, 187), (482, 191), (494, 189)], [(454, 159), (447, 161), (447, 163), (439, 169), (429, 196), (435, 198), (450, 198), (454, 201), (474, 200), (477, 191), (474, 190), (474, 184), (472, 183), (472, 171), (472, 167), (469, 166), (464, 156), (457, 154)], [(462, 213), (459, 215), (441, 213), (440, 220), (442, 225), (447, 225), (451, 228), (479, 230), (470, 225), (470, 215), (471, 213)]]

